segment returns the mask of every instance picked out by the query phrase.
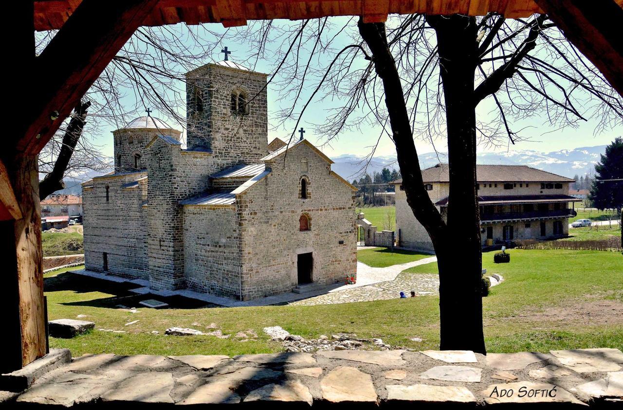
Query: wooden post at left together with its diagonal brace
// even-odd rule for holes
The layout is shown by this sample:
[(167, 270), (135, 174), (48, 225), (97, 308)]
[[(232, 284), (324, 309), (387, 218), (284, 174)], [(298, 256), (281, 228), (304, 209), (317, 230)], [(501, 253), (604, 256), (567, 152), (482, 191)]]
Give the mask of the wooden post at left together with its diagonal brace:
[[(19, 62), (9, 100), (12, 136), (0, 151), (6, 166), (2, 203), (14, 197), (19, 213), (0, 222), (4, 292), (0, 299), (9, 332), (2, 373), (45, 355), (45, 306), (41, 251), (38, 155), (62, 121), (123, 47), (158, 0), (83, 0), (39, 57), (34, 52), (34, 6), (17, 2), (7, 54)], [(18, 7), (19, 6), (19, 7)], [(34, 75), (36, 73), (36, 75)], [(7, 187), (12, 187), (12, 191)]]

